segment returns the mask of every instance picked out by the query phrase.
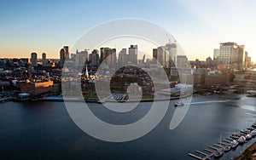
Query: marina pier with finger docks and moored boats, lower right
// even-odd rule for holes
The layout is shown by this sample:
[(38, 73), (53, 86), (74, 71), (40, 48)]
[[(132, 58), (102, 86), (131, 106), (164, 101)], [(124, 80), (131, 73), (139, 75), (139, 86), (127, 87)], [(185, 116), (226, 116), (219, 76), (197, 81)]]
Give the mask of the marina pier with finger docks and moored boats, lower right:
[[(253, 126), (254, 125), (254, 126)], [(212, 144), (212, 146), (208, 146), (204, 149), (204, 151), (195, 151), (195, 154), (189, 153), (189, 157), (193, 157), (198, 160), (207, 160), (211, 157), (214, 157), (219, 151), (224, 152), (226, 147), (231, 147), (233, 140), (238, 140), (241, 136), (245, 136), (246, 134), (251, 134), (253, 130), (256, 129), (256, 123), (254, 123), (250, 128), (242, 129), (239, 132), (231, 134), (230, 137), (224, 138), (224, 140), (219, 140), (217, 144)], [(255, 135), (253, 135), (254, 137)]]

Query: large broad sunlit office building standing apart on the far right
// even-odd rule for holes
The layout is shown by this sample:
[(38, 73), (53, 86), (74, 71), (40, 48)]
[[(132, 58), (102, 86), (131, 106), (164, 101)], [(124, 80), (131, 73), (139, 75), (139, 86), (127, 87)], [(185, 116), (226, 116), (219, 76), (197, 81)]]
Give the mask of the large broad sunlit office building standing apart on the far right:
[(220, 43), (218, 64), (226, 68), (242, 70), (245, 61), (245, 46), (237, 43)]

